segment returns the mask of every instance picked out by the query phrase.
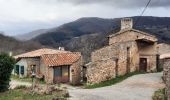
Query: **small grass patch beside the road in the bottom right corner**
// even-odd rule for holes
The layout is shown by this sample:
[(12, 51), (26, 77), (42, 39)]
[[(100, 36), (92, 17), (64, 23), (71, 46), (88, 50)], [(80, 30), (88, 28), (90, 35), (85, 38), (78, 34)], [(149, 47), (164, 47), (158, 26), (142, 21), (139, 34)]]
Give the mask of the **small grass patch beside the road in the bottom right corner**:
[(165, 88), (155, 91), (154, 95), (152, 96), (152, 99), (153, 100), (167, 100), (167, 96), (165, 96)]

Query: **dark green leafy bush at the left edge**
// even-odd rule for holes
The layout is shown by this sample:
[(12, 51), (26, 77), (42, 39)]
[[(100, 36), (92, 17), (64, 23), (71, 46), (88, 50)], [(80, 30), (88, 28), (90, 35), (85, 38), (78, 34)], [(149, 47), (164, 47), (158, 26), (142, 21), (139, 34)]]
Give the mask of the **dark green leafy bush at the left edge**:
[(0, 92), (9, 88), (10, 76), (15, 65), (15, 59), (6, 53), (0, 54)]

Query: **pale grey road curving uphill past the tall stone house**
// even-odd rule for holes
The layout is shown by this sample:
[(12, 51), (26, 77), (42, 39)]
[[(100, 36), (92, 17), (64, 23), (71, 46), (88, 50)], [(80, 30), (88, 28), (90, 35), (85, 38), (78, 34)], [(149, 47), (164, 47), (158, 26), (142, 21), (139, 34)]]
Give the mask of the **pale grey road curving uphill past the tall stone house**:
[(70, 100), (152, 100), (155, 90), (164, 87), (162, 73), (132, 76), (116, 85), (97, 89), (72, 89)]

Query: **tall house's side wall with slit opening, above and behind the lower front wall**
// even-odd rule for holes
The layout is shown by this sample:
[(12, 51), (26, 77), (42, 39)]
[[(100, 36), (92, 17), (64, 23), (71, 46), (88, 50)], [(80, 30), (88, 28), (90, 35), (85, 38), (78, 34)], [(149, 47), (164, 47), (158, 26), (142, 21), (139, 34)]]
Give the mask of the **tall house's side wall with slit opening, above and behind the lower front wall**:
[[(127, 51), (127, 48), (129, 48), (129, 51)], [(118, 75), (126, 74), (128, 70), (127, 67), (129, 67), (129, 72), (134, 72), (138, 69), (139, 65), (139, 54), (135, 41), (116, 43), (114, 45), (106, 46), (93, 52), (91, 58), (92, 62), (117, 58)], [(129, 59), (129, 63), (127, 62), (127, 59)]]

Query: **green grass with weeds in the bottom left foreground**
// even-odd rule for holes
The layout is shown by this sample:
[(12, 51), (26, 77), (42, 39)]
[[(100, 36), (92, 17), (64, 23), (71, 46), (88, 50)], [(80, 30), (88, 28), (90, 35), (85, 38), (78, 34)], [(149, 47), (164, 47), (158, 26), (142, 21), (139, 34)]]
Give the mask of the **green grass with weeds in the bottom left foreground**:
[[(52, 100), (55, 97), (61, 97), (61, 92), (55, 92), (52, 95), (32, 95), (26, 89), (14, 89), (7, 92), (0, 93), (0, 100)], [(61, 100), (66, 100), (65, 98)]]

